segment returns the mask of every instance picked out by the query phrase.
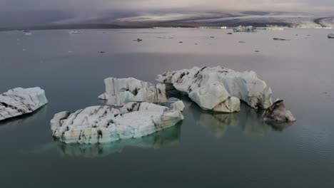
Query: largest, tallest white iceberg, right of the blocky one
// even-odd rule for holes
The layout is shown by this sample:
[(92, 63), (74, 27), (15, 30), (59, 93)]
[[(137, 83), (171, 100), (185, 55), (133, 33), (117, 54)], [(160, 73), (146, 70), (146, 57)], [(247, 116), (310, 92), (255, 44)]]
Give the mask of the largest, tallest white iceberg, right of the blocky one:
[(157, 80), (172, 83), (176, 90), (188, 94), (204, 110), (237, 112), (240, 100), (255, 109), (266, 109), (273, 104), (271, 89), (254, 71), (241, 73), (221, 66), (194, 67), (166, 71), (158, 75)]

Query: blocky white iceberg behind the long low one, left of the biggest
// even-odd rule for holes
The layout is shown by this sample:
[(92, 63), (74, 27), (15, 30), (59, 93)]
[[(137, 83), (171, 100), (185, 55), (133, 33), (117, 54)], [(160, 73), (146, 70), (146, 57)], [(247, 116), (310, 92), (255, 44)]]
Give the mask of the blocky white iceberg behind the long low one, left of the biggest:
[(166, 86), (153, 85), (136, 78), (106, 78), (106, 93), (98, 96), (108, 105), (122, 106), (129, 102), (166, 103)]

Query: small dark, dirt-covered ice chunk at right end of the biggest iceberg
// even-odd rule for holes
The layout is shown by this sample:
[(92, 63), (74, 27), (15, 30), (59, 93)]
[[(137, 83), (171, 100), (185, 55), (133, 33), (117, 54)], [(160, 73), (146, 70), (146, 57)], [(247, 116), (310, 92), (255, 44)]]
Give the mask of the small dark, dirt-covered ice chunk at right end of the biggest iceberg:
[(294, 122), (296, 120), (293, 114), (285, 108), (283, 100), (276, 100), (270, 108), (265, 110), (263, 119), (275, 122)]

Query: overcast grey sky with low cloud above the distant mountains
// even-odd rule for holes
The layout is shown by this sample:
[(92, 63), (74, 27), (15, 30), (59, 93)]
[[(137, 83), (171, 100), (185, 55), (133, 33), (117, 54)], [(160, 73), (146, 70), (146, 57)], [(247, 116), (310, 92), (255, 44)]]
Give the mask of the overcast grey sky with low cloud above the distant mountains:
[[(0, 24), (56, 21), (74, 14), (161, 11), (334, 12), (334, 0), (0, 0)], [(38, 19), (39, 18), (39, 19)]]

